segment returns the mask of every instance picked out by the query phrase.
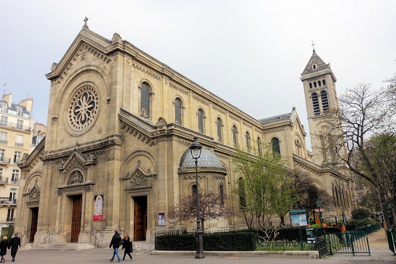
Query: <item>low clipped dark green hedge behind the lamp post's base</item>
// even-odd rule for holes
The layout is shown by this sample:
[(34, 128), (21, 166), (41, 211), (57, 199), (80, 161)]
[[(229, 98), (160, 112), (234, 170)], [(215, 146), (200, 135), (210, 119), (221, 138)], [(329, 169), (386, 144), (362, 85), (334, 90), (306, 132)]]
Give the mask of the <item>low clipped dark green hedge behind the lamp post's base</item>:
[[(204, 251), (254, 251), (255, 249), (256, 236), (253, 232), (203, 234)], [(157, 236), (155, 250), (195, 251), (195, 234)]]

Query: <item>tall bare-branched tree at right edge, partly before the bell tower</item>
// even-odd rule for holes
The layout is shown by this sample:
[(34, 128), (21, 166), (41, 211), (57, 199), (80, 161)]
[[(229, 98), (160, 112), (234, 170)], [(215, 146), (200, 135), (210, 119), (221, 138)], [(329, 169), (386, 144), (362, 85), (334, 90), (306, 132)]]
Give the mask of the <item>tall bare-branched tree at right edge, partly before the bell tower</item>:
[(386, 205), (393, 203), (395, 208), (395, 193), (391, 193), (389, 188), (392, 182), (389, 171), (384, 169), (381, 159), (375, 158), (383, 150), (373, 148), (370, 139), (390, 131), (393, 124), (387, 107), (384, 107), (389, 102), (385, 100), (384, 93), (373, 91), (370, 84), (359, 84), (347, 89), (346, 94), (340, 97), (340, 107), (329, 110), (319, 131), (319, 135), (326, 135), (321, 137), (323, 155), (330, 152), (336, 154), (337, 159), (344, 162), (351, 172), (379, 191), (377, 199), (383, 200), (382, 211), (388, 228), (390, 222)]

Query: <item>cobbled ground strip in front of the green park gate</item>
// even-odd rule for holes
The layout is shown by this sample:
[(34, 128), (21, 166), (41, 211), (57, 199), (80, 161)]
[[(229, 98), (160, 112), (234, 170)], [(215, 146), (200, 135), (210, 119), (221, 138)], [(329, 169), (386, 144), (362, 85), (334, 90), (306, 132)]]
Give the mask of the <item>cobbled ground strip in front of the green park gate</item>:
[(370, 249), (371, 256), (366, 253), (356, 253), (352, 256), (348, 254), (334, 254), (326, 256), (326, 260), (372, 260), (372, 261), (396, 261), (396, 256), (388, 248), (372, 248)]

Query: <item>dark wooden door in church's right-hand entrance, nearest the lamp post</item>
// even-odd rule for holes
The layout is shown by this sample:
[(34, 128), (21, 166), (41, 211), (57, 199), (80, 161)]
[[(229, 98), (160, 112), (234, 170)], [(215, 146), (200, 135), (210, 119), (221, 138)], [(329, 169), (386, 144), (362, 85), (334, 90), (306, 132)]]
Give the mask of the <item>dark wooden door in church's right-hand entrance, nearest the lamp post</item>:
[(147, 232), (147, 196), (138, 196), (135, 200), (135, 241), (145, 241)]

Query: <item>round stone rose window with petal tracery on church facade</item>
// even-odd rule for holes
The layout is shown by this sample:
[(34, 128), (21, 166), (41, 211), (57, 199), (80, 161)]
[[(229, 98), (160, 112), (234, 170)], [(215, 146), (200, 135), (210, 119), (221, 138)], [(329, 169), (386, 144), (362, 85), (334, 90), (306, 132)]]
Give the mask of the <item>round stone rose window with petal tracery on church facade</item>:
[(92, 87), (83, 87), (77, 91), (69, 107), (69, 122), (75, 131), (85, 131), (95, 120), (98, 101), (98, 94)]

